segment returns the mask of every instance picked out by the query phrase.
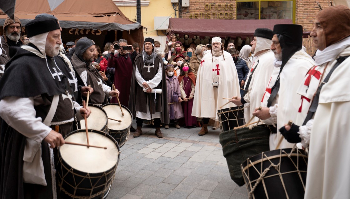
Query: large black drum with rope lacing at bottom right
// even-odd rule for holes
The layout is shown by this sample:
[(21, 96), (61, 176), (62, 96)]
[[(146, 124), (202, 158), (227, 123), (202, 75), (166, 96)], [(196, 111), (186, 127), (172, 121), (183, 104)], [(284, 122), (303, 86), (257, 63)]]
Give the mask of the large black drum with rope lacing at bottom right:
[(300, 149), (278, 149), (248, 158), (242, 165), (250, 198), (304, 198), (307, 155)]

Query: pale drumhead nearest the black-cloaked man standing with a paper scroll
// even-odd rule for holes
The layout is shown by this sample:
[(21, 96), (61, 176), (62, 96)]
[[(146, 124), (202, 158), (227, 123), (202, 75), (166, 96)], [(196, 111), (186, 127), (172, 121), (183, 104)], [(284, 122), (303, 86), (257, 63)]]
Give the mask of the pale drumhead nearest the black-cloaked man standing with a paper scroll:
[(102, 107), (107, 113), (108, 118), (121, 120), (121, 122), (108, 120), (108, 128), (113, 130), (123, 130), (131, 126), (132, 116), (128, 109), (121, 106), (124, 116), (121, 115), (120, 107), (118, 104), (108, 104)]

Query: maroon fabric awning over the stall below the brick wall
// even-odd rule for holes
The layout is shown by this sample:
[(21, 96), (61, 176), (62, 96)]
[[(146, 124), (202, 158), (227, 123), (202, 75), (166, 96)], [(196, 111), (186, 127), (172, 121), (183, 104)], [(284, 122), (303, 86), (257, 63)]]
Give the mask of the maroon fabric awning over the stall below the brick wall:
[[(291, 24), (290, 19), (269, 20), (220, 20), (220, 19), (181, 19), (170, 18), (167, 33), (179, 34), (179, 37), (188, 35), (209, 37), (252, 37), (257, 28), (268, 28), (273, 30), (275, 24)], [(304, 38), (310, 32), (304, 32)]]

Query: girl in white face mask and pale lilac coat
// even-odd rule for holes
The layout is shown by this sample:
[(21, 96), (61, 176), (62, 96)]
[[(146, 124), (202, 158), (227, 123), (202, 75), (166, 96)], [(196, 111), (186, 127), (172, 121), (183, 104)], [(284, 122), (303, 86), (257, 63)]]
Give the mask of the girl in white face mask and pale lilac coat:
[[(180, 102), (181, 93), (180, 93), (180, 84), (177, 80), (177, 77), (174, 75), (174, 66), (168, 64), (166, 66), (167, 74), (167, 97), (168, 97), (168, 110), (169, 110), (169, 119), (170, 122), (174, 121), (175, 128), (180, 128), (177, 123), (177, 119), (183, 118), (183, 111)], [(169, 104), (172, 103), (172, 104)], [(164, 128), (169, 128), (169, 124), (165, 124)]]

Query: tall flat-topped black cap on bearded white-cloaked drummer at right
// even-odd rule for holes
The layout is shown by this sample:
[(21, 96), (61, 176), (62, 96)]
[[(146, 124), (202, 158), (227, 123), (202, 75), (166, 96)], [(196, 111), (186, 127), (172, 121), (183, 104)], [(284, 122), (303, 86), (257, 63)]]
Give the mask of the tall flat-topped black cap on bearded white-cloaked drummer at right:
[(273, 27), (273, 34), (283, 35), (288, 45), (302, 47), (303, 27), (298, 24), (276, 24)]

